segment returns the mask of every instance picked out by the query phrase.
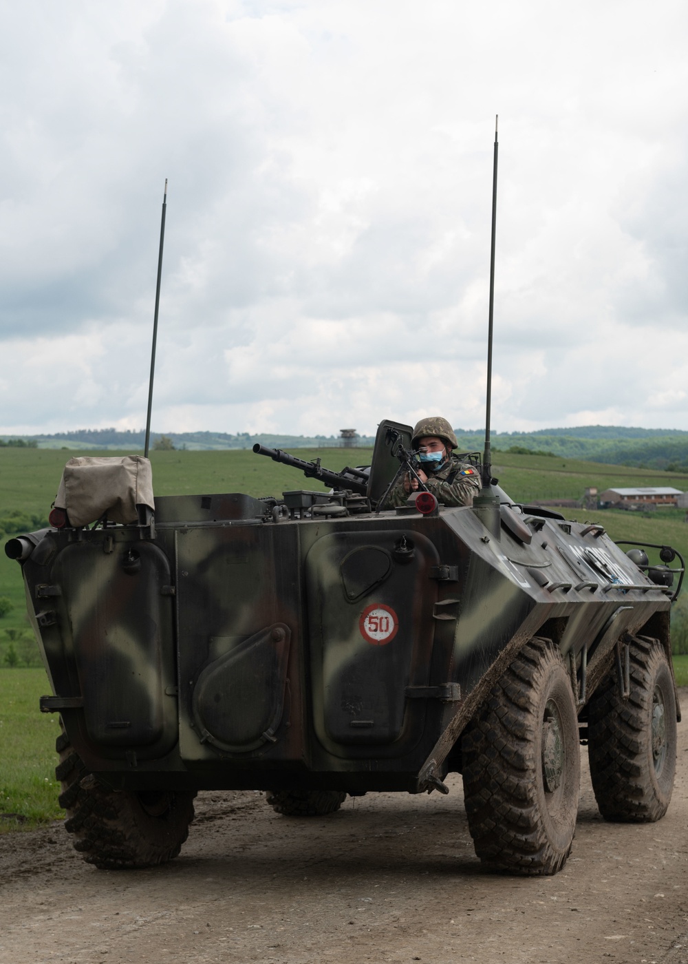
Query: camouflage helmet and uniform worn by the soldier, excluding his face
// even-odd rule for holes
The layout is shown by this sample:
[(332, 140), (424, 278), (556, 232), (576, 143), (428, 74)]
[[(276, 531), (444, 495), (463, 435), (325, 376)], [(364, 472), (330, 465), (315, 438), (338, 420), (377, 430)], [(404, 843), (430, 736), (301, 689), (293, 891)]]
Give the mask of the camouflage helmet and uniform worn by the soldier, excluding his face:
[[(445, 442), (447, 450), (457, 447), (457, 437), (451, 425), (439, 415), (421, 418), (413, 429), (411, 444), (416, 448), (420, 439), (433, 436)], [(432, 463), (426, 463), (423, 471), (428, 476), (426, 487), (444, 505), (472, 505), (473, 496), (480, 491), (481, 480), (477, 470), (452, 452), (436, 471), (432, 469)], [(405, 478), (406, 475), (401, 476), (381, 508), (394, 509), (398, 505), (406, 505), (410, 492), (404, 487)]]

